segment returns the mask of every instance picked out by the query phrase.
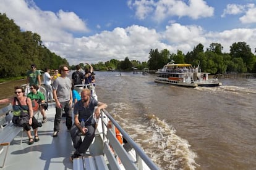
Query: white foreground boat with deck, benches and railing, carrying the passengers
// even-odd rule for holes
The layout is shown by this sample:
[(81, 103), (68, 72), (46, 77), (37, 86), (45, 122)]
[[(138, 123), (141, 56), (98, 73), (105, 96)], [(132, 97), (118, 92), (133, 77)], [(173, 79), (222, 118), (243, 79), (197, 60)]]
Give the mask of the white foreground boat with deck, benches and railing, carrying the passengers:
[[(45, 93), (43, 87), (40, 91)], [(96, 120), (95, 139), (86, 155), (75, 158), (73, 163), (69, 158), (74, 147), (64, 118), (58, 137), (53, 137), (54, 102), (49, 103), (46, 110), (48, 121), (38, 129), (40, 140), (32, 145), (28, 145), (28, 137), (23, 136), (22, 128), (17, 131), (10, 119), (4, 118), (12, 115), (11, 110), (11, 104), (0, 110), (0, 166), (4, 163), (1, 169), (159, 169), (106, 110), (101, 111)], [(35, 117), (42, 120), (40, 113)], [(111, 128), (108, 127), (109, 121)], [(126, 139), (126, 144), (117, 140), (116, 128)]]

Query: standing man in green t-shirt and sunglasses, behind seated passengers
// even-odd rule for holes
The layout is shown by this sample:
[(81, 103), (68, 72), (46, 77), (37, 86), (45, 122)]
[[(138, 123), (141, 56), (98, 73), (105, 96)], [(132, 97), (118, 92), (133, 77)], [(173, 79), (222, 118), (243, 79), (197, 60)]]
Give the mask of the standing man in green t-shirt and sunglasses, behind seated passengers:
[(40, 71), (36, 70), (36, 65), (31, 65), (31, 70), (28, 70), (27, 72), (27, 86), (29, 83), (29, 86), (37, 85), (41, 86), (41, 73)]

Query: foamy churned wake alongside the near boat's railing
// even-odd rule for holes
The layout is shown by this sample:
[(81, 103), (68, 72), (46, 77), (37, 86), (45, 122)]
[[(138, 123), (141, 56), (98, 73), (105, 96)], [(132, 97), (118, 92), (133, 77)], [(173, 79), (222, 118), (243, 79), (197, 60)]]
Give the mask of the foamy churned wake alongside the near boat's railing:
[(199, 166), (189, 142), (177, 136), (174, 127), (155, 115), (131, 115), (132, 107), (126, 103), (112, 105), (114, 119), (161, 169), (195, 169)]

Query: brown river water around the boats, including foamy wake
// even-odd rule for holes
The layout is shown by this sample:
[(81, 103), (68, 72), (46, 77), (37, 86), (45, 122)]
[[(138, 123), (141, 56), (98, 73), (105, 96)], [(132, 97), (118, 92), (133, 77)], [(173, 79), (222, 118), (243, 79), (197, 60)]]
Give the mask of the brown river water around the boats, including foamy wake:
[[(256, 79), (193, 89), (95, 73), (98, 100), (161, 169), (255, 169)], [(0, 99), (24, 83), (0, 84)]]

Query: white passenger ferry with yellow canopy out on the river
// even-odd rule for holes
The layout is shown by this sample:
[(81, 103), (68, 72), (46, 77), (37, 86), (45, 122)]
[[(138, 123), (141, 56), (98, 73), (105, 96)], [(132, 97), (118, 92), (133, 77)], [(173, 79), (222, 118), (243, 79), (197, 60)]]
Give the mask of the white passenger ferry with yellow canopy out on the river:
[(187, 63), (168, 63), (158, 69), (156, 83), (174, 84), (177, 86), (220, 86), (218, 79), (209, 78), (209, 73), (201, 72), (200, 68), (193, 68)]

